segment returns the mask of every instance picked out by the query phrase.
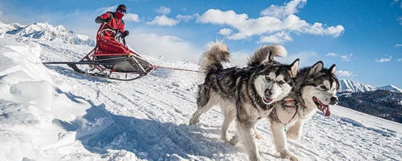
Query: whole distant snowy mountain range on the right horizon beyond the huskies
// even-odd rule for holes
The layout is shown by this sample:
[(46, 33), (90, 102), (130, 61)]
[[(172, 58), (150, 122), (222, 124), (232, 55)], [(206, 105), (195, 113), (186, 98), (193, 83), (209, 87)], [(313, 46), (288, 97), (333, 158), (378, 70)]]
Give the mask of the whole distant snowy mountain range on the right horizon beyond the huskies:
[(372, 85), (365, 85), (357, 82), (353, 82), (352, 80), (347, 80), (347, 79), (342, 79), (339, 80), (340, 83), (340, 88), (339, 92), (369, 92), (369, 91), (374, 91), (374, 90), (389, 90), (392, 92), (400, 92), (402, 93), (402, 90), (395, 85), (385, 85), (381, 87), (373, 87)]

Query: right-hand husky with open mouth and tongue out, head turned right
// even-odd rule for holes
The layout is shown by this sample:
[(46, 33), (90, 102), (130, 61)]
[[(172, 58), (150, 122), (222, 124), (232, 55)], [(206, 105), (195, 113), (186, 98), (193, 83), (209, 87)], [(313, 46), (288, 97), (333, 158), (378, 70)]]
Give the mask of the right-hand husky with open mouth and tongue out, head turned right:
[(325, 117), (331, 115), (329, 105), (338, 103), (338, 87), (335, 65), (325, 69), (319, 61), (298, 71), (294, 90), (274, 105), (269, 117), (274, 144), (282, 158), (297, 160), (288, 150), (287, 139), (298, 139), (304, 121), (317, 110)]

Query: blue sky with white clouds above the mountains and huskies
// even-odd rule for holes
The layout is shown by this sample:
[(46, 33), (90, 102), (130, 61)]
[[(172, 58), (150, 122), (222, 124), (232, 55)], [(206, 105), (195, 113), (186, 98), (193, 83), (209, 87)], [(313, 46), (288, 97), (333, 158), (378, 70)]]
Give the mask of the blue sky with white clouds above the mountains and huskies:
[[(94, 38), (94, 19), (128, 7), (128, 44), (139, 53), (198, 62), (204, 44), (225, 40), (244, 66), (263, 44), (283, 44), (300, 66), (337, 65), (338, 78), (402, 87), (402, 0), (378, 1), (21, 1), (0, 2), (6, 24), (46, 22)], [(83, 51), (86, 52), (86, 51)]]

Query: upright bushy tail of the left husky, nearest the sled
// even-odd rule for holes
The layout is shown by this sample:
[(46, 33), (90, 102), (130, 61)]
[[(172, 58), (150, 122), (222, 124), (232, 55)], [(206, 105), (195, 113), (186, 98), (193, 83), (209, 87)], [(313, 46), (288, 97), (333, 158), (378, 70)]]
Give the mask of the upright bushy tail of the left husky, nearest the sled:
[(229, 62), (229, 49), (223, 42), (209, 42), (207, 51), (200, 57), (200, 72), (207, 75), (209, 71), (221, 69), (222, 62)]

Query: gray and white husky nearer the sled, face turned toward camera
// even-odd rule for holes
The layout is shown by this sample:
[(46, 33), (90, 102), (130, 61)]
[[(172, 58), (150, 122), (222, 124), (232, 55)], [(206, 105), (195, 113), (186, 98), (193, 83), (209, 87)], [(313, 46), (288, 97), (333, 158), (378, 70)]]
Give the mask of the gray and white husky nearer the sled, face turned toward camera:
[(209, 44), (200, 62), (205, 80), (198, 92), (198, 109), (189, 124), (197, 124), (204, 112), (213, 105), (220, 105), (225, 117), (222, 139), (229, 142), (227, 129), (236, 118), (236, 140), (243, 142), (250, 160), (259, 160), (253, 128), (259, 119), (270, 115), (272, 103), (288, 95), (297, 75), (299, 59), (291, 65), (283, 65), (273, 59), (286, 54), (286, 49), (279, 44), (264, 45), (249, 58), (249, 67), (224, 69), (222, 62), (229, 62), (229, 49), (222, 42)]

